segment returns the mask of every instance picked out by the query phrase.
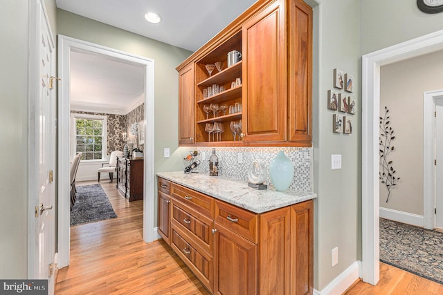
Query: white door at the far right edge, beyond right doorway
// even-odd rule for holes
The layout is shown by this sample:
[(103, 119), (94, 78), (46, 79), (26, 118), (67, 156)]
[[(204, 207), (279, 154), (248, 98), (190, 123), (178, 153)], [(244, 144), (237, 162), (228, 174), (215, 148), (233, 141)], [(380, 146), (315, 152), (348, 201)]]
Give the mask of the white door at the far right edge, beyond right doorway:
[(435, 227), (443, 229), (443, 99), (435, 99)]

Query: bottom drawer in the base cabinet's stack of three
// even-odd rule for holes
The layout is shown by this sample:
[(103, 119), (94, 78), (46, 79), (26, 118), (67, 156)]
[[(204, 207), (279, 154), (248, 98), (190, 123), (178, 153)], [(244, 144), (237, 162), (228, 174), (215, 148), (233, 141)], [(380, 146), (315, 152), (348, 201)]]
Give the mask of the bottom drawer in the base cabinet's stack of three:
[(211, 292), (213, 290), (213, 258), (204, 256), (172, 229), (172, 248)]

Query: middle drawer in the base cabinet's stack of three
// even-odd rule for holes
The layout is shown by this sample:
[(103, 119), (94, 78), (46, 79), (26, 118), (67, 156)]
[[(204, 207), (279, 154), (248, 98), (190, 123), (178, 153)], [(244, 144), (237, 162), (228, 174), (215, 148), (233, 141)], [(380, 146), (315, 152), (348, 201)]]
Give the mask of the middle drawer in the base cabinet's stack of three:
[[(213, 255), (213, 220), (185, 205), (172, 201), (172, 225), (179, 227), (209, 255)], [(196, 245), (196, 246), (197, 246)]]

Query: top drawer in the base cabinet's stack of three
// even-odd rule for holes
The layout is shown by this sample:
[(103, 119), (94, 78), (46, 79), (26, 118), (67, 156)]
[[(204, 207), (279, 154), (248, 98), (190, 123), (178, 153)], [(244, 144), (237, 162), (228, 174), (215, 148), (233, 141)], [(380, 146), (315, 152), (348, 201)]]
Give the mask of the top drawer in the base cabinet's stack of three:
[(214, 198), (175, 183), (171, 186), (171, 196), (192, 209), (208, 217), (213, 217)]

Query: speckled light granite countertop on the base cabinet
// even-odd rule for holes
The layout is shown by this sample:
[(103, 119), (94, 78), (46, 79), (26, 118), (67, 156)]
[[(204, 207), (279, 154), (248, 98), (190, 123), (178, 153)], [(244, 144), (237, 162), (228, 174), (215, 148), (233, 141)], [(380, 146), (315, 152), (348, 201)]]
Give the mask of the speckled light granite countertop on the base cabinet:
[(248, 182), (245, 180), (209, 176), (206, 173), (188, 174), (183, 171), (174, 171), (158, 172), (156, 175), (255, 213), (264, 213), (317, 197), (313, 192), (286, 191), (283, 193), (273, 189), (252, 189), (248, 187)]

